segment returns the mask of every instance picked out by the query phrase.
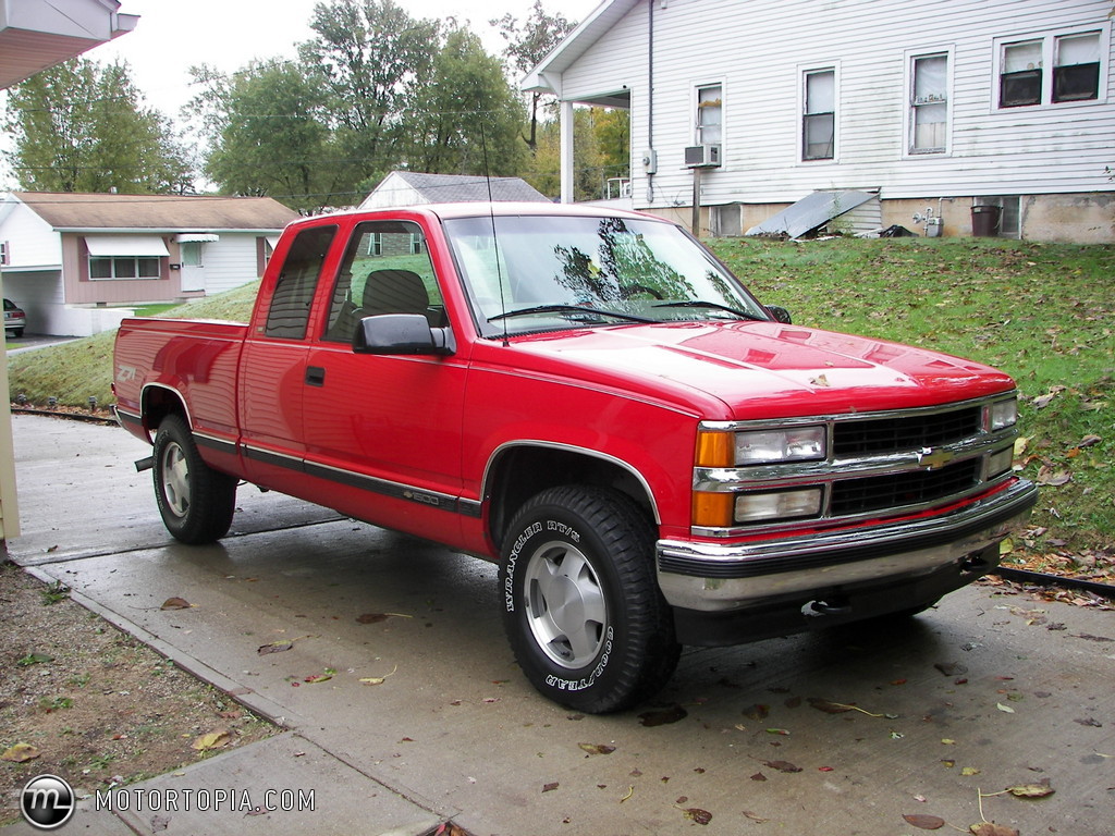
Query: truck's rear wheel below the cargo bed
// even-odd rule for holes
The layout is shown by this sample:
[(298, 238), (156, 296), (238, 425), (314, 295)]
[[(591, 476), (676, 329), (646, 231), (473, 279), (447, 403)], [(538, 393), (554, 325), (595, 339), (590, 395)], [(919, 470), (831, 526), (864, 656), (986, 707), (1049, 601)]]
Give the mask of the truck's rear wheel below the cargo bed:
[(236, 479), (202, 459), (185, 421), (172, 415), (155, 434), (155, 502), (175, 539), (212, 543), (229, 533), (236, 511)]

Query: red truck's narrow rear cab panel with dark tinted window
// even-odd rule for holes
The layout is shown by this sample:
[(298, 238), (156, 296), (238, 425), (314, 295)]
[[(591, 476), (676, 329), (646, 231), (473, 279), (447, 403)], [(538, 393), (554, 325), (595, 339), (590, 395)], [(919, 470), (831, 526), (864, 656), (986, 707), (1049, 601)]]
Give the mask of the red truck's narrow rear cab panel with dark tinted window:
[(252, 482), (295, 496), (304, 483), (307, 336), (313, 297), (336, 236), (336, 225), (311, 226), (298, 233), (273, 286), (264, 283), (260, 288), (260, 299), (269, 300), (266, 310), (255, 311), (241, 359), (239, 398), (245, 470)]

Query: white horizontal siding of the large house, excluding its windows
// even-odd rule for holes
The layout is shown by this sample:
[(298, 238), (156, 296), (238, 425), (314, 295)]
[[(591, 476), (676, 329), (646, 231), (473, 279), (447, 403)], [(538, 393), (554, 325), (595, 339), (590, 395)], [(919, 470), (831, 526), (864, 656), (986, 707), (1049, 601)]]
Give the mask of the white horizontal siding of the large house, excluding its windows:
[[(1111, 192), (1115, 89), (1109, 0), (670, 0), (655, 4), (653, 196), (639, 161), (650, 146), (646, 3), (562, 77), (562, 97), (632, 91), (637, 206), (689, 205), (696, 85), (724, 85), (724, 166), (702, 203), (785, 203), (822, 188), (889, 198)], [(996, 39), (1102, 28), (1098, 101), (997, 109)], [(906, 154), (910, 58), (947, 52), (952, 85), (946, 154)], [(834, 161), (801, 161), (801, 77), (836, 67)], [(1051, 68), (1046, 67), (1046, 72)]]

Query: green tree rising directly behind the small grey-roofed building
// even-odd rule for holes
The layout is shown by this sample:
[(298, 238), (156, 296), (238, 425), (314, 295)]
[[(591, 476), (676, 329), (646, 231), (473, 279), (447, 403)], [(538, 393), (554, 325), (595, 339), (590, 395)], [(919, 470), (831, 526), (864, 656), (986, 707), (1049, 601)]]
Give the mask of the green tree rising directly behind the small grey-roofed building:
[(475, 35), (454, 28), (406, 119), (410, 167), (429, 174), (516, 175), (523, 117), (500, 61)]

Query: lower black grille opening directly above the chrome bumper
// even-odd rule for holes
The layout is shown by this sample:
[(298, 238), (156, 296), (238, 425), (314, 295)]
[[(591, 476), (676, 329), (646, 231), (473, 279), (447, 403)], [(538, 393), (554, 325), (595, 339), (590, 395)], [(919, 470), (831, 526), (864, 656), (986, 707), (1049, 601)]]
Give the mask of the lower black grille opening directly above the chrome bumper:
[(871, 476), (833, 483), (832, 515), (867, 514), (901, 508), (961, 494), (979, 482), (979, 459), (960, 461), (940, 470)]

